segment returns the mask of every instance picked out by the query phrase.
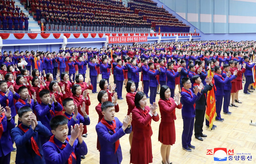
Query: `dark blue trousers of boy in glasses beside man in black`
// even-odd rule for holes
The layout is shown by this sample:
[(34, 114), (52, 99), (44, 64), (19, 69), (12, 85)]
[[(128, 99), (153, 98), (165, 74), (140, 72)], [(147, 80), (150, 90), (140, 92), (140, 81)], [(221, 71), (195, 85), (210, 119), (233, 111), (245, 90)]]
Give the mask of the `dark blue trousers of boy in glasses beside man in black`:
[(183, 117), (183, 132), (182, 132), (182, 147), (186, 148), (191, 145), (191, 137), (193, 135), (194, 120), (195, 118)]

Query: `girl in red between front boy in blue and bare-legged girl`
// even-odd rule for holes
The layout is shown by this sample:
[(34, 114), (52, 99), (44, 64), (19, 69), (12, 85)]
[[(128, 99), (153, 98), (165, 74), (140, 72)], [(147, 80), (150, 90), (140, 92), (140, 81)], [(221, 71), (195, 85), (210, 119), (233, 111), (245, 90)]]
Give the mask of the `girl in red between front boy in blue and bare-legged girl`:
[(157, 105), (153, 102), (153, 105), (148, 107), (147, 98), (143, 92), (136, 93), (134, 103), (136, 107), (132, 110), (134, 129), (130, 163), (152, 163), (151, 120), (159, 121), (159, 115), (156, 112)]

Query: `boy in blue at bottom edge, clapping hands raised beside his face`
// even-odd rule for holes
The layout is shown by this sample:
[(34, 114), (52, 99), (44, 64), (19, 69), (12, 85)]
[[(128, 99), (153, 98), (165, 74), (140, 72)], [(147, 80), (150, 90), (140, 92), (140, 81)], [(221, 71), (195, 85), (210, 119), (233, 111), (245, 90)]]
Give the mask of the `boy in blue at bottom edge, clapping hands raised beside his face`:
[(68, 163), (80, 164), (81, 156), (87, 154), (87, 146), (82, 138), (83, 124), (71, 126), (68, 135), (68, 119), (57, 115), (50, 121), (50, 140), (43, 145), (45, 162), (47, 164)]

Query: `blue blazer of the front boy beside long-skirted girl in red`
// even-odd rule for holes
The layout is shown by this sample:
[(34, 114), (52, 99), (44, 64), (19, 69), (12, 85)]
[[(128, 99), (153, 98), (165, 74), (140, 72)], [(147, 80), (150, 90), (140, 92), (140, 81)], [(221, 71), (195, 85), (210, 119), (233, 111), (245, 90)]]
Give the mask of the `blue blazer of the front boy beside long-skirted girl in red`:
[[(111, 124), (110, 121), (107, 121), (109, 124)], [(112, 163), (121, 163), (122, 162), (122, 150), (121, 146), (119, 144), (118, 149), (115, 153), (115, 142), (120, 139), (125, 134), (129, 134), (132, 132), (132, 127), (126, 128), (125, 131), (123, 131), (122, 126), (123, 124), (118, 120), (118, 118), (115, 117), (116, 122), (116, 128), (114, 133), (112, 130), (107, 128), (105, 125), (103, 125), (101, 122), (99, 122), (96, 125), (96, 132), (98, 135), (98, 139), (100, 142), (100, 163), (104, 164), (112, 164)]]

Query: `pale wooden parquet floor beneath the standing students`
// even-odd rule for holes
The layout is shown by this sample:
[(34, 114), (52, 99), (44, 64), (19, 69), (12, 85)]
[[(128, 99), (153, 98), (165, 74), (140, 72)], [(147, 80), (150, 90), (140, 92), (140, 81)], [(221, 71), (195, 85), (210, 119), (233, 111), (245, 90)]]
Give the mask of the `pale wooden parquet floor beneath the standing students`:
[[(101, 75), (99, 75), (99, 79), (101, 79)], [(87, 70), (86, 81), (89, 77), (89, 70)], [(110, 83), (113, 84), (113, 75), (110, 77)], [(139, 83), (139, 87), (142, 86), (141, 82)], [(243, 84), (244, 85), (244, 84)], [(97, 91), (100, 88), (97, 86)], [(176, 89), (178, 92), (178, 89)], [(88, 137), (83, 138), (87, 144), (88, 154), (86, 158), (81, 161), (82, 164), (89, 163), (99, 163), (100, 153), (96, 148), (97, 143), (97, 133), (95, 131), (95, 126), (98, 122), (98, 114), (95, 111), (95, 106), (99, 103), (97, 100), (97, 94), (90, 93), (91, 106), (89, 107), (89, 117), (91, 120), (91, 124), (87, 126), (88, 129)], [(116, 117), (119, 118), (120, 121), (123, 120), (124, 116), (127, 114), (127, 103), (125, 99), (126, 90), (125, 86), (123, 86), (122, 97), (124, 100), (118, 100), (118, 104), (120, 107), (120, 111), (115, 114)], [(148, 104), (149, 104), (149, 99)], [(156, 102), (159, 100), (159, 95), (156, 97)], [(183, 120), (181, 116), (181, 110), (176, 109), (177, 120), (175, 120), (176, 127), (176, 143), (171, 147), (170, 151), (170, 161), (175, 164), (186, 163), (186, 164), (201, 164), (201, 163), (256, 163), (256, 127), (249, 125), (251, 119), (253, 122), (256, 121), (256, 90), (251, 95), (245, 95), (242, 91), (239, 92), (239, 100), (242, 102), (241, 104), (236, 103), (239, 107), (229, 107), (229, 111), (232, 112), (232, 115), (223, 114), (221, 111), (222, 118), (225, 119), (223, 122), (215, 121), (214, 124), (218, 127), (215, 130), (209, 130), (205, 126), (204, 123), (204, 134), (207, 135), (206, 138), (203, 138), (204, 141), (199, 141), (192, 136), (191, 144), (196, 146), (196, 149), (192, 150), (192, 152), (187, 152), (182, 149), (181, 144), (181, 135), (183, 131)], [(159, 109), (157, 110), (158, 114), (160, 114)], [(16, 116), (16, 122), (18, 120), (18, 116)], [(153, 163), (160, 164), (162, 163), (162, 158), (160, 154), (161, 143), (158, 142), (158, 128), (159, 122), (152, 122), (152, 130), (153, 135), (152, 139), (152, 152), (153, 152)], [(129, 134), (123, 136), (120, 139), (120, 144), (122, 147), (123, 161), (122, 163), (128, 164), (130, 163), (130, 145), (129, 145)], [(15, 145), (14, 145), (15, 147)], [(248, 159), (235, 160), (233, 158), (232, 161), (222, 161), (217, 162), (214, 161), (213, 155), (206, 155), (207, 149), (214, 148), (227, 148), (234, 150), (234, 156), (237, 156), (236, 153), (251, 153), (252, 160), (248, 161)], [(213, 151), (212, 151), (213, 152)], [(15, 163), (15, 155), (16, 152), (12, 152), (11, 154), (11, 162)], [(247, 158), (248, 155), (246, 155)], [(239, 155), (241, 157), (241, 155)]]

